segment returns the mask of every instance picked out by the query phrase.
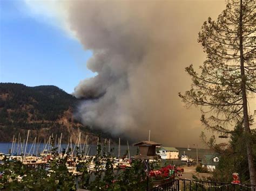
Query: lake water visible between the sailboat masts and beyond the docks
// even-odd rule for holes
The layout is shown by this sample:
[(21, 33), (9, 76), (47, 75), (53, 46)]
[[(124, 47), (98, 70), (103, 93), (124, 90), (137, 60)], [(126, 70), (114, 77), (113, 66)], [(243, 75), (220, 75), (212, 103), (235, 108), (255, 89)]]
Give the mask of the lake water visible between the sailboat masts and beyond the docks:
[[(75, 144), (73, 144), (72, 146), (74, 146)], [(0, 152), (3, 152), (3, 153), (9, 153), (11, 151), (11, 146), (12, 146), (12, 143), (0, 143)], [(63, 148), (66, 148), (68, 145), (67, 144), (62, 144), (62, 149)], [(28, 146), (26, 148), (26, 153), (37, 153), (38, 152), (42, 152), (44, 150), (44, 148), (48, 149), (48, 146), (45, 147), (44, 144), (36, 144), (36, 146), (32, 147), (32, 143), (28, 143)], [(83, 145), (82, 145), (83, 147)], [(90, 150), (89, 150), (89, 154), (90, 155), (95, 155), (96, 154), (96, 150), (97, 150), (97, 146), (96, 145), (89, 145), (90, 147)], [(50, 147), (49, 147), (50, 148)], [(112, 148), (112, 153), (114, 156), (118, 157), (118, 144), (114, 144), (114, 145), (110, 145), (110, 148)], [(136, 154), (137, 152), (137, 147), (134, 147), (134, 146), (129, 146), (129, 149), (130, 149), (130, 155), (133, 156)], [(187, 148), (182, 148), (182, 147), (177, 147), (177, 149), (179, 150), (179, 157), (181, 157), (181, 154), (184, 153), (185, 151), (185, 154), (187, 154), (189, 157), (191, 157), (192, 159), (196, 159), (196, 148), (191, 148), (191, 151), (188, 151)], [(24, 153), (24, 150), (25, 150), (25, 147), (23, 147), (23, 153)], [(106, 145), (106, 148), (105, 148), (106, 152), (109, 150), (109, 146)], [(127, 145), (121, 145), (120, 146), (120, 157), (122, 157), (128, 150), (128, 147)], [(21, 153), (21, 147), (17, 147), (17, 144), (14, 148), (14, 152), (12, 153), (17, 153), (18, 151), (18, 154)], [(211, 151), (210, 150), (207, 150), (207, 149), (202, 149), (202, 148), (199, 148), (198, 149), (198, 157), (199, 159), (203, 158), (205, 154), (210, 154)]]

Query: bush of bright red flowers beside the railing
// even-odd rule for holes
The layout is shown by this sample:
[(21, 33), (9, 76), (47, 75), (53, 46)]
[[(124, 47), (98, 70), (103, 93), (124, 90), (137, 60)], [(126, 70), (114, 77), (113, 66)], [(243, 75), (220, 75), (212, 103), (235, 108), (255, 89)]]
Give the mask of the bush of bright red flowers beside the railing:
[(153, 180), (162, 180), (167, 178), (174, 178), (175, 175), (180, 176), (181, 172), (184, 172), (183, 168), (168, 165), (165, 167), (161, 167), (158, 170), (150, 171), (149, 176)]

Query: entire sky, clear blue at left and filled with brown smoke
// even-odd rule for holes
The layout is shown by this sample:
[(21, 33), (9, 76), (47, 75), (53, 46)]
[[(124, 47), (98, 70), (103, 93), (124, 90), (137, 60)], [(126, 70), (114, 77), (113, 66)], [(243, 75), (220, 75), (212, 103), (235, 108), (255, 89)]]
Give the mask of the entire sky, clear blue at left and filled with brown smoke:
[(166, 146), (200, 144), (199, 109), (184, 108), (178, 92), (190, 88), (185, 67), (205, 60), (203, 22), (225, 1), (0, 2), (1, 82), (76, 87), (75, 96), (95, 99), (79, 105), (84, 124), (138, 139), (150, 129)]

